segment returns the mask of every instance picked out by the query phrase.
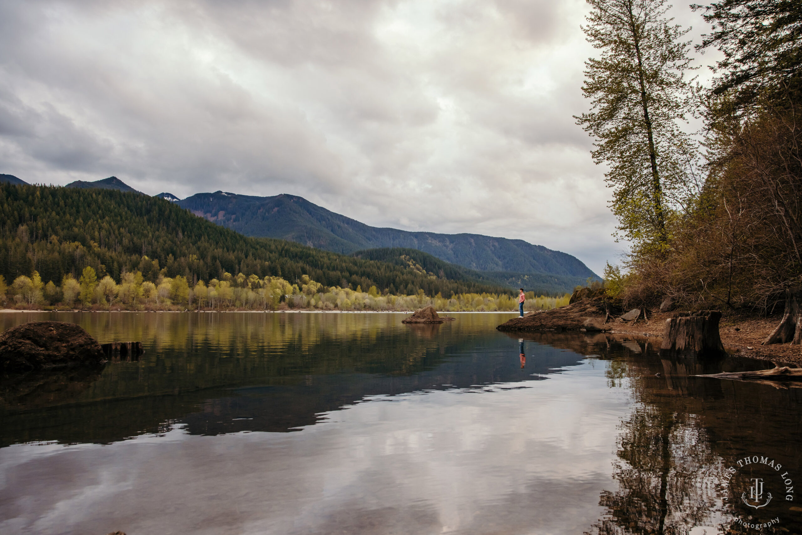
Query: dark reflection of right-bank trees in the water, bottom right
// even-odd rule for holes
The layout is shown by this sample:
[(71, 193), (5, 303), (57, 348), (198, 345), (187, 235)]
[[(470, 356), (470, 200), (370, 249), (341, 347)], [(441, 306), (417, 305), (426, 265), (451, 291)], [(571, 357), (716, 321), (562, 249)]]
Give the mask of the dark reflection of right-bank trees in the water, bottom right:
[(771, 363), (660, 358), (644, 342), (637, 346), (640, 355), (631, 355), (635, 351), (627, 343), (630, 358), (621, 358), (612, 356), (611, 343), (617, 342), (597, 347), (600, 358), (612, 359), (609, 385), (629, 387), (634, 408), (618, 427), (613, 467), (618, 488), (602, 492), (599, 505), (606, 514), (586, 533), (673, 535), (690, 533), (694, 526), (715, 527), (710, 535), (748, 533), (754, 529), (738, 525), (735, 517), (754, 522), (777, 516), (780, 525), (760, 533), (800, 533), (799, 514), (788, 505), (778, 501), (756, 520), (739, 501), (722, 501), (718, 486), (723, 470), (751, 452), (782, 458), (797, 471), (799, 454), (788, 446), (800, 436), (800, 389), (693, 377)]

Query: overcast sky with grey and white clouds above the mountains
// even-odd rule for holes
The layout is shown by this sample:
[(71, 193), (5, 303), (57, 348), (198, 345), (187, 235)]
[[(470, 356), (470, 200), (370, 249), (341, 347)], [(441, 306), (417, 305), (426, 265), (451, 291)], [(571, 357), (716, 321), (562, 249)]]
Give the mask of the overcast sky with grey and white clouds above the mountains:
[(586, 10), (0, 0), (0, 172), (293, 193), (369, 225), (521, 238), (601, 273), (624, 245), (572, 118), (587, 107)]

